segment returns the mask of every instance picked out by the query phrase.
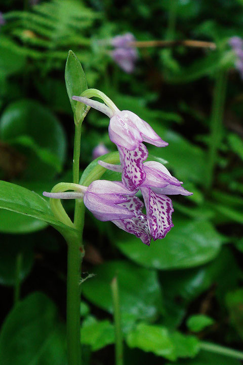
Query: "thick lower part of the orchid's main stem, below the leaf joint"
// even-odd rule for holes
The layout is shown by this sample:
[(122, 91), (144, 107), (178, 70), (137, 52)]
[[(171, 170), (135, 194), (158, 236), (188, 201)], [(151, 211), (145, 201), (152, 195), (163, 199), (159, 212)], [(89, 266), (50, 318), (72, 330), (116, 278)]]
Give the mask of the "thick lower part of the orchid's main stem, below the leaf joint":
[(68, 365), (81, 364), (80, 281), (83, 254), (76, 236), (69, 239), (67, 256), (67, 354)]

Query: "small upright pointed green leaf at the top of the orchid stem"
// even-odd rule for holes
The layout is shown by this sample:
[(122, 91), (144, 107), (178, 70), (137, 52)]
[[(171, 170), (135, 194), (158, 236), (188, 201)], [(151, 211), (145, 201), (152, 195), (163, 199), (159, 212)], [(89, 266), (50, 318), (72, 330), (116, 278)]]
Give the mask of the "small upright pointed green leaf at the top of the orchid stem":
[(88, 86), (83, 67), (72, 51), (69, 51), (67, 56), (65, 81), (74, 117), (77, 122), (83, 122), (86, 115), (85, 109), (87, 107), (83, 103), (72, 100), (72, 96), (80, 96), (83, 91), (88, 89)]

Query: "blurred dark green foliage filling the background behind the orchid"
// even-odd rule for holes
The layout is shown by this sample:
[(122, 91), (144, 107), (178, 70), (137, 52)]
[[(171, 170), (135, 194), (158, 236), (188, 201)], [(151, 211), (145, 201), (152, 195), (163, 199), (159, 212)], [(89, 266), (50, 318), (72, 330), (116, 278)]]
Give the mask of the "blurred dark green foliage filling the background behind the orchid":
[[(242, 0), (32, 3), (1, 2), (1, 179), (39, 195), (71, 181), (64, 67), (72, 49), (89, 87), (169, 142), (149, 152), (193, 192), (173, 197), (175, 227), (151, 247), (87, 212), (83, 270), (96, 275), (84, 282), (80, 306), (85, 363), (113, 363), (116, 275), (126, 365), (238, 365), (204, 341), (237, 349), (243, 339), (243, 89), (228, 46), (229, 37), (243, 36)], [(217, 48), (141, 48), (127, 75), (101, 40), (128, 31), (138, 41), (196, 39)], [(85, 119), (82, 169), (97, 144), (115, 151), (108, 123), (96, 111)], [(65, 207), (72, 214), (73, 202)], [(47, 223), (3, 209), (0, 232), (0, 362), (65, 364), (65, 242)], [(19, 281), (21, 301), (13, 306)]]

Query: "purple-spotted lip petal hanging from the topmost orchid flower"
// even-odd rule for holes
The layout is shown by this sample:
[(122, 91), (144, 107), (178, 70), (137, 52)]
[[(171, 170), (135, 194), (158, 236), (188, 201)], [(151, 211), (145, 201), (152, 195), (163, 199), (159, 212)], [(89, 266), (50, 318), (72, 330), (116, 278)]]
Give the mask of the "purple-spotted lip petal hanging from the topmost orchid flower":
[(148, 157), (148, 151), (143, 143), (134, 151), (117, 146), (120, 156), (121, 167), (123, 168), (122, 180), (125, 186), (133, 191), (144, 181), (143, 161)]

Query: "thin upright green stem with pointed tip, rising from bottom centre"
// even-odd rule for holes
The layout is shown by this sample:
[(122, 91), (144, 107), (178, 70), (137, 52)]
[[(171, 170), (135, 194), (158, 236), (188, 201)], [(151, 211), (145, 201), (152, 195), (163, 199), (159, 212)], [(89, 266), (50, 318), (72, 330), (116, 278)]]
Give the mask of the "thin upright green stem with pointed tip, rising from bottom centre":
[(117, 278), (111, 282), (115, 326), (115, 364), (123, 365), (123, 333), (121, 331), (120, 304)]

